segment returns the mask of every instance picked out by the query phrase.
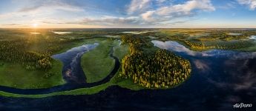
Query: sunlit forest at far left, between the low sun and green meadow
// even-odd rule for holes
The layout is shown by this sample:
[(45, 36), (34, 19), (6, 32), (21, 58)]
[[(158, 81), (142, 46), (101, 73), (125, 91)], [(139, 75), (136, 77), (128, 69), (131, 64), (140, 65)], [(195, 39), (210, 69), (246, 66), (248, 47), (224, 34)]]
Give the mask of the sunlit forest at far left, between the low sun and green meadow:
[(27, 36), (11, 41), (0, 41), (0, 60), (22, 64), (27, 70), (49, 70), (53, 61), (50, 56), (72, 41), (78, 40)]

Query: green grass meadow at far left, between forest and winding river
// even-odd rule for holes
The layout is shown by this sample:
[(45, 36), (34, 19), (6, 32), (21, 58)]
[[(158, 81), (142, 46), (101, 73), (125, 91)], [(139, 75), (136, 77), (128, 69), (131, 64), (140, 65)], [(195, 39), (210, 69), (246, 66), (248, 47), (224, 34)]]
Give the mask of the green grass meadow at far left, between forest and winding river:
[(20, 64), (4, 63), (0, 66), (0, 84), (19, 89), (38, 89), (65, 84), (60, 61), (53, 61), (53, 68), (49, 71), (54, 74), (45, 78), (47, 72), (44, 70), (25, 70)]

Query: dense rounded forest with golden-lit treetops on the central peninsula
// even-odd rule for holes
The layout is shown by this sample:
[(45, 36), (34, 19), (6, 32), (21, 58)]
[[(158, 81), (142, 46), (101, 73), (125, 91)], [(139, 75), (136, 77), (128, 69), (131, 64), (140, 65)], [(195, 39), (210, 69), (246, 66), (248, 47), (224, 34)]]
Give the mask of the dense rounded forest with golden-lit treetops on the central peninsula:
[(188, 60), (168, 50), (155, 50), (139, 36), (122, 36), (122, 42), (130, 45), (130, 54), (122, 59), (122, 78), (131, 78), (143, 87), (168, 88), (180, 84), (191, 73)]

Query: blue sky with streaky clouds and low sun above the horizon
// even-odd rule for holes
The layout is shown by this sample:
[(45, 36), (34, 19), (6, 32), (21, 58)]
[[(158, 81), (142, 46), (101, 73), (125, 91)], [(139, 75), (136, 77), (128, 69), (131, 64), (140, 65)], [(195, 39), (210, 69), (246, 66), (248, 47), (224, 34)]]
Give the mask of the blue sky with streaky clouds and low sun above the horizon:
[(0, 28), (256, 28), (256, 0), (0, 0)]

